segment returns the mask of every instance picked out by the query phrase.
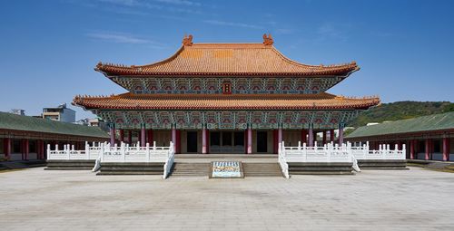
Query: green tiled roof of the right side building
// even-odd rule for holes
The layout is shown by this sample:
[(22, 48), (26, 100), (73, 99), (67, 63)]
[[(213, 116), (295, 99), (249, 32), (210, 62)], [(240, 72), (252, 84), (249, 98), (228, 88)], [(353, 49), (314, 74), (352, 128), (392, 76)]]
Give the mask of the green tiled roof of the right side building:
[(454, 111), (360, 127), (345, 138), (374, 137), (432, 130), (454, 130)]

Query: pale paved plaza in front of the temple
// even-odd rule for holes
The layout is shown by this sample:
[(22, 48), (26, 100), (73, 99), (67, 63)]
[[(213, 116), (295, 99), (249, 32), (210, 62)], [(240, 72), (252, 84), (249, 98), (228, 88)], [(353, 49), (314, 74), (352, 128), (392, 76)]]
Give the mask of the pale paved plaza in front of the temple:
[(454, 230), (454, 174), (169, 178), (0, 173), (0, 230)]

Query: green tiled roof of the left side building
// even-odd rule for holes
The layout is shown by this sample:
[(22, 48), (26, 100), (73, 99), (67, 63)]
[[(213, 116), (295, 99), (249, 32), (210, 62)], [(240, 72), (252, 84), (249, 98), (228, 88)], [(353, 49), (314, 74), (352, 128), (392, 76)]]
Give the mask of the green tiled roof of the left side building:
[(72, 136), (109, 138), (99, 127), (83, 126), (68, 122), (44, 120), (0, 111), (0, 130), (25, 130)]

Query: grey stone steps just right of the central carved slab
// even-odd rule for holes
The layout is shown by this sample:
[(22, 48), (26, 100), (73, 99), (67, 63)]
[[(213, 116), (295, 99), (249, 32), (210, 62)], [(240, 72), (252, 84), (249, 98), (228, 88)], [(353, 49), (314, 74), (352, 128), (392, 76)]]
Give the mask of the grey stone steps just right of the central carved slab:
[(282, 178), (278, 163), (242, 163), (244, 178)]

